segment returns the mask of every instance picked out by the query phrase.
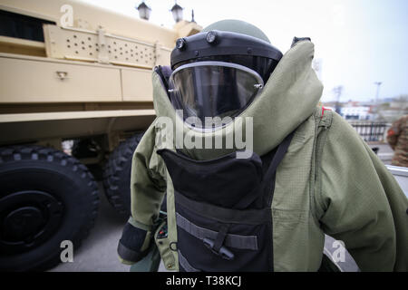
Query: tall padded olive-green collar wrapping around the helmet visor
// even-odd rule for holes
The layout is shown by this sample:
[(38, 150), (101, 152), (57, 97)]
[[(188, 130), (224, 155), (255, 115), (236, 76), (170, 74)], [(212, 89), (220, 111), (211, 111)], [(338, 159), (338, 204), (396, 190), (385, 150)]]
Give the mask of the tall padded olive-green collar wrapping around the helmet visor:
[[(273, 150), (289, 132), (294, 131), (315, 110), (323, 86), (311, 66), (314, 52), (313, 43), (309, 41), (296, 43), (277, 64), (257, 100), (252, 102), (240, 115), (243, 119), (253, 118), (253, 150), (258, 155), (264, 155)], [(167, 92), (161, 85), (160, 76), (153, 73), (152, 78), (156, 114), (161, 117), (169, 117), (176, 134), (182, 129), (184, 135), (202, 140), (202, 148), (208, 138), (215, 139), (220, 135), (225, 144), (227, 139), (234, 140), (235, 131), (242, 131), (243, 136), (246, 135), (246, 123), (237, 121), (230, 122), (226, 127), (217, 131), (202, 133), (190, 130), (179, 115), (176, 115)], [(183, 152), (196, 160), (209, 160), (237, 149), (239, 145), (234, 140), (232, 149), (192, 149), (183, 150)]]

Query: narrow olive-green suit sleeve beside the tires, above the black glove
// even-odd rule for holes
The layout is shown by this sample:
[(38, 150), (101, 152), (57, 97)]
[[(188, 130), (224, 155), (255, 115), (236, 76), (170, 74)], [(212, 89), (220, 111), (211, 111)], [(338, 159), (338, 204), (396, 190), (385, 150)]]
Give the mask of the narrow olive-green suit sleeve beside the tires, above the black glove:
[(166, 191), (166, 169), (156, 153), (155, 138), (153, 122), (134, 151), (131, 164), (131, 217), (148, 227), (159, 217)]

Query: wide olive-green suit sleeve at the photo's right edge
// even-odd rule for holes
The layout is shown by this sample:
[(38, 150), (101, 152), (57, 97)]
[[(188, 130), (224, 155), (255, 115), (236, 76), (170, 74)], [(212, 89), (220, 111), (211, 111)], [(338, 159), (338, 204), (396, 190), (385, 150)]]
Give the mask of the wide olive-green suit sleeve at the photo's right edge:
[(408, 270), (408, 200), (373, 150), (334, 114), (321, 152), (325, 233), (342, 240), (362, 271)]

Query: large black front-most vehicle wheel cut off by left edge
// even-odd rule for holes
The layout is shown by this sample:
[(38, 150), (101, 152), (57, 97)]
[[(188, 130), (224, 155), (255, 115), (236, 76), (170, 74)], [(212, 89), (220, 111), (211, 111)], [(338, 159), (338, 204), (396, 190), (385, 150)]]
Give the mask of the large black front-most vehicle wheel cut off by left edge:
[(62, 242), (72, 241), (76, 250), (93, 226), (97, 184), (83, 164), (62, 151), (0, 148), (0, 184), (0, 270), (55, 266)]

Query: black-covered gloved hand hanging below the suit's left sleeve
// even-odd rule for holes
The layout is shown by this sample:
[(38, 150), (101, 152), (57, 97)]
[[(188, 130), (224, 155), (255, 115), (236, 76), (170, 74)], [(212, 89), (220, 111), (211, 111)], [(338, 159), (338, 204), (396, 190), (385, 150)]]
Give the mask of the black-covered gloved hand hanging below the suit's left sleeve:
[(138, 227), (133, 218), (123, 228), (118, 245), (118, 255), (121, 263), (132, 265), (139, 262), (149, 253), (151, 247), (151, 231), (148, 227)]

